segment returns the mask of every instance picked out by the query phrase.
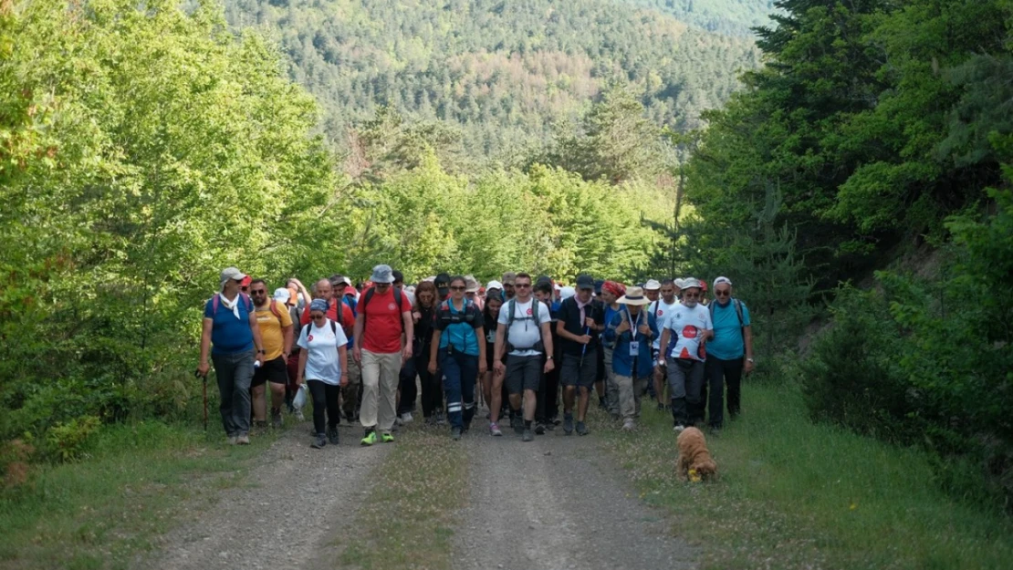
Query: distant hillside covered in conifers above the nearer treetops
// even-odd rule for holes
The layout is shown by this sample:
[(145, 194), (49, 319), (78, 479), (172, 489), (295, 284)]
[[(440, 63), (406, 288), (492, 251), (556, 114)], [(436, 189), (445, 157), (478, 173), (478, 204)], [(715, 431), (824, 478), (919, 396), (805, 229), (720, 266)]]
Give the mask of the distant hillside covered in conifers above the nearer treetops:
[[(725, 3), (734, 5), (735, 21), (754, 21), (766, 4)], [(737, 74), (757, 65), (752, 39), (671, 15), (712, 11), (657, 2), (673, 4), (667, 13), (650, 4), (227, 0), (226, 14), (234, 26), (277, 34), (292, 78), (316, 96), (324, 131), (338, 144), (349, 127), (389, 105), (409, 120), (448, 121), (471, 153), (509, 163), (541, 147), (554, 123), (565, 131), (613, 83), (631, 86), (652, 120), (699, 127), (700, 113), (721, 106)], [(716, 28), (728, 26), (735, 27)]]

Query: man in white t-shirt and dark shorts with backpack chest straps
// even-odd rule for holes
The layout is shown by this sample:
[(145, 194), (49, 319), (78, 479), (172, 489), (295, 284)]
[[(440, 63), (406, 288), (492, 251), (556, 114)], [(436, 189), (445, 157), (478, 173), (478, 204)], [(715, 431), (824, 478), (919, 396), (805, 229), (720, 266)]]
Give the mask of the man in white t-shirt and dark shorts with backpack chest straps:
[[(511, 423), (515, 431), (523, 433), (524, 441), (534, 435), (531, 423), (535, 420), (538, 385), (542, 374), (555, 368), (552, 361), (552, 316), (544, 303), (532, 297), (531, 275), (518, 273), (514, 279), (516, 297), (499, 309), (496, 320), (495, 356), (492, 367), (505, 374), (503, 383), (510, 394)], [(506, 363), (502, 356), (506, 354)], [(546, 354), (542, 365), (542, 354)], [(521, 415), (521, 398), (524, 397), (524, 419)], [(521, 423), (523, 422), (523, 423)]]

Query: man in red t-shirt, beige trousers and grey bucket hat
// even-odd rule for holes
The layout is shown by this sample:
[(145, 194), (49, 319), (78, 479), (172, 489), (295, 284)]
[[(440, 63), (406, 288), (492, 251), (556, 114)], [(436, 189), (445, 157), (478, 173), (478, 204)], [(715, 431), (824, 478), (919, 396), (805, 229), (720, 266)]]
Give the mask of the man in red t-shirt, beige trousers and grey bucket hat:
[[(373, 268), (374, 286), (363, 292), (356, 317), (353, 358), (363, 369), (363, 404), (359, 421), (366, 428), (363, 445), (393, 441), (397, 386), (401, 364), (411, 357), (414, 329), (408, 296), (391, 287), (390, 265)], [(397, 296), (397, 297), (395, 297)]]

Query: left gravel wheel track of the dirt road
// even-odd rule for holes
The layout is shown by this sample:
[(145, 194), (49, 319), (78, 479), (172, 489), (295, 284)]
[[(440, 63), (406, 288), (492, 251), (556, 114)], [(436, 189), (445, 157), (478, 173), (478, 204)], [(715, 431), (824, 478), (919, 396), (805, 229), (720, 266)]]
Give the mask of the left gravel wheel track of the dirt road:
[(335, 449), (310, 449), (310, 423), (283, 435), (247, 476), (247, 485), (223, 491), (218, 503), (164, 539), (151, 568), (264, 568), (317, 566), (342, 526), (353, 523), (369, 491), (364, 480), (389, 445), (359, 446), (360, 428), (339, 428)]

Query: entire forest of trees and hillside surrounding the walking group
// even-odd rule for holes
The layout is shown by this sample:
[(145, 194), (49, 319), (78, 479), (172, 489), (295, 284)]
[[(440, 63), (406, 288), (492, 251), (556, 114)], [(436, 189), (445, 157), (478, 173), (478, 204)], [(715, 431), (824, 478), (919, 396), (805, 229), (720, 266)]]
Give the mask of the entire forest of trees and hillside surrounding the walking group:
[(1011, 508), (1013, 2), (619, 5), (0, 0), (0, 441), (193, 417), (225, 265), (726, 274), (758, 382)]

